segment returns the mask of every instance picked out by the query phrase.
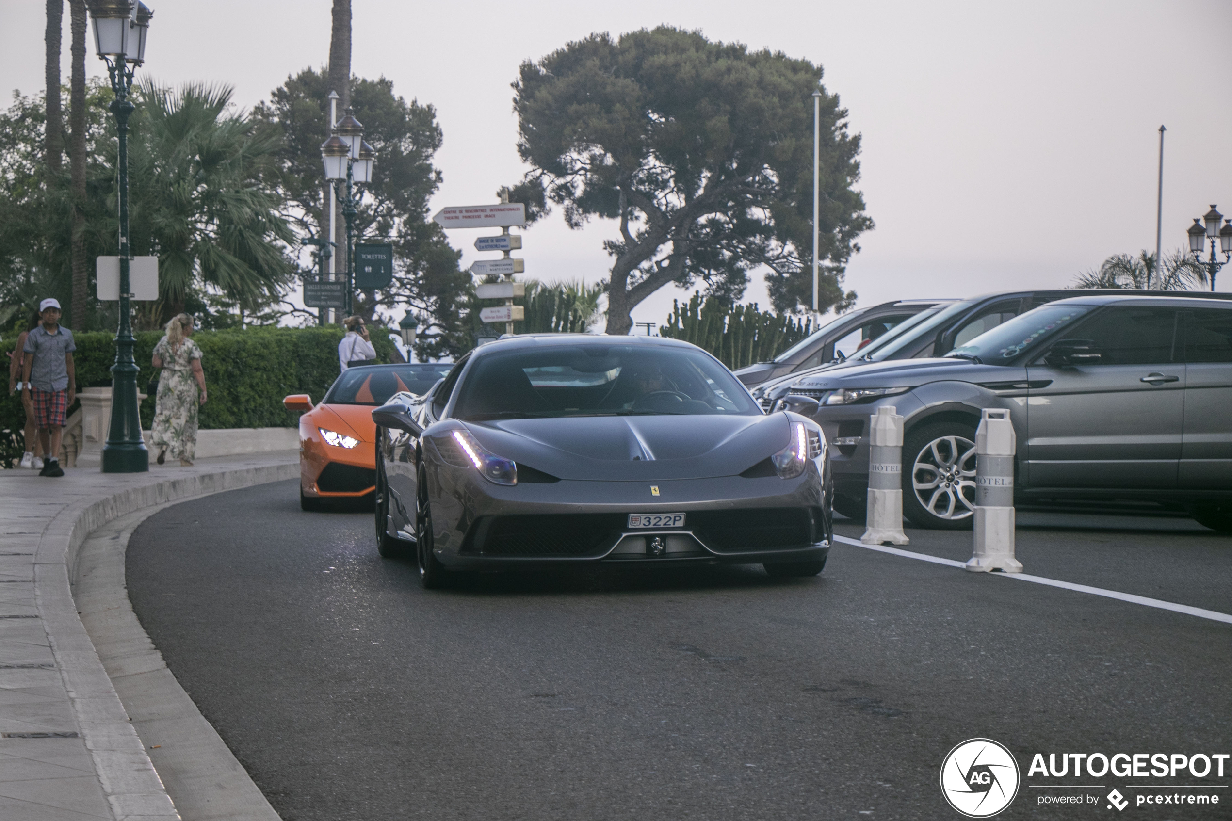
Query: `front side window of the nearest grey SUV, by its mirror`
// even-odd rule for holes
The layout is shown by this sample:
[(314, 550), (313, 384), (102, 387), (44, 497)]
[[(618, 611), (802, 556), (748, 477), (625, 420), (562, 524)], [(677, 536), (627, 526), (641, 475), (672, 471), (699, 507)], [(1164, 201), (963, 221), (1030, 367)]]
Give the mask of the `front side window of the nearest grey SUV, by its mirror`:
[(1094, 342), (1100, 364), (1180, 362), (1179, 316), (1174, 308), (1114, 305), (1096, 313), (1066, 337)]

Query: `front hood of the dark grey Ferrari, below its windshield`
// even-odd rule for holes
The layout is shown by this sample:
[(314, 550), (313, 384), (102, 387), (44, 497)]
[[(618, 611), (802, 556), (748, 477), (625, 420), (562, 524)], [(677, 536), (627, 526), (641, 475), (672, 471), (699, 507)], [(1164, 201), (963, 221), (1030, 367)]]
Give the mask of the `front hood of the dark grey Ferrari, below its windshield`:
[(573, 416), (466, 422), (495, 454), (561, 479), (732, 476), (786, 447), (772, 416)]

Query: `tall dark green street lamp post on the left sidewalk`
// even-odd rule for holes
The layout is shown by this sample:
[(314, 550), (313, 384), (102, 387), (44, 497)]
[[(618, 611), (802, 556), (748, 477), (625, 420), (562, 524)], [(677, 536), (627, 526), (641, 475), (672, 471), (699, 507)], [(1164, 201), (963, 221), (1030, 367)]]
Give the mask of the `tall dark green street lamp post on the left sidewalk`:
[(133, 358), (136, 340), (129, 318), (128, 117), (134, 106), (128, 92), (133, 87), (133, 73), (145, 60), (145, 34), (154, 12), (139, 0), (86, 0), (86, 6), (94, 22), (95, 50), (99, 59), (107, 63), (111, 90), (116, 95), (111, 111), (116, 114), (120, 149), (120, 327), (116, 330), (116, 363), (111, 367), (111, 426), (102, 446), (102, 473), (144, 473), (150, 463), (142, 438), (137, 400), (140, 368)]

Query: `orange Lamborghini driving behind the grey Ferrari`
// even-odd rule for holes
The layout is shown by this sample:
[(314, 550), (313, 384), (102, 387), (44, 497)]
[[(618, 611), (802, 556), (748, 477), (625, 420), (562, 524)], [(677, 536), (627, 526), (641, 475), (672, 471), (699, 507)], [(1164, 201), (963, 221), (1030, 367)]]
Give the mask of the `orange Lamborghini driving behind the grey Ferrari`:
[(282, 400), (299, 411), (299, 507), (322, 508), (328, 499), (361, 500), (376, 490), (376, 425), (372, 409), (399, 391), (426, 393), (453, 367), (448, 363), (370, 364), (347, 368), (319, 405), (308, 394)]

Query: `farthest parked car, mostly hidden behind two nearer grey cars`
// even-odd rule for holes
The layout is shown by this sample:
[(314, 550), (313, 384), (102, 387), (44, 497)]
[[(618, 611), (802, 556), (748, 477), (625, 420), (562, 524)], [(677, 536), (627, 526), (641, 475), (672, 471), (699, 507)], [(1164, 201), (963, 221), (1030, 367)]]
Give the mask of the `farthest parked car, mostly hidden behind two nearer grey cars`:
[[(752, 388), (766, 379), (800, 373), (844, 359), (877, 340), (903, 320), (938, 304), (936, 299), (902, 299), (871, 308), (857, 308), (827, 322), (774, 358), (758, 362), (736, 372), (737, 378)], [(949, 302), (949, 300), (947, 300)]]

